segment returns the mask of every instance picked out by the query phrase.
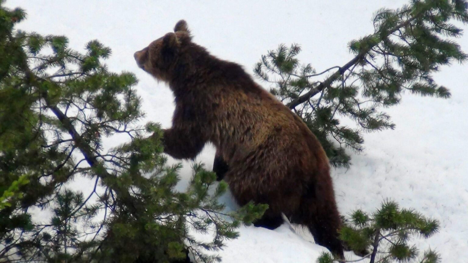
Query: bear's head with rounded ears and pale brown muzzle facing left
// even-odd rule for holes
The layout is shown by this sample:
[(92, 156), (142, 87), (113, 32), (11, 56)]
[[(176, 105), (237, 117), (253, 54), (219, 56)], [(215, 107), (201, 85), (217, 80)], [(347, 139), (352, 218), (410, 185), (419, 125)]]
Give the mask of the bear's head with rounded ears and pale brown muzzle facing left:
[(180, 60), (190, 45), (191, 36), (187, 22), (181, 20), (176, 23), (174, 33), (170, 32), (160, 37), (146, 48), (133, 55), (138, 66), (150, 73), (157, 80), (168, 82), (171, 73), (180, 71)]

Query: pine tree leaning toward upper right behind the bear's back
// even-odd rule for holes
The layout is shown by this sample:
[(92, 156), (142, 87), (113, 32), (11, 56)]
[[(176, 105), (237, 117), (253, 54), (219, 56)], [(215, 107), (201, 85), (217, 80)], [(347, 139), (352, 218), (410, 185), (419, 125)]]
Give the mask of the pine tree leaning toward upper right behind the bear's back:
[[(353, 40), (355, 55), (343, 66), (317, 72), (301, 65), (300, 45), (281, 44), (255, 65), (260, 79), (314, 132), (334, 166), (348, 166), (345, 148), (362, 151), (363, 132), (394, 129), (383, 108), (400, 102), (404, 92), (450, 97), (432, 74), (453, 61), (467, 60), (454, 38), (468, 22), (465, 0), (411, 0), (396, 10), (376, 12), (373, 34)], [(351, 119), (357, 128), (346, 126)]]

